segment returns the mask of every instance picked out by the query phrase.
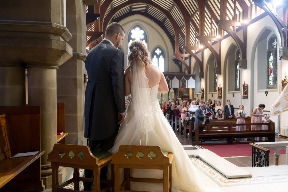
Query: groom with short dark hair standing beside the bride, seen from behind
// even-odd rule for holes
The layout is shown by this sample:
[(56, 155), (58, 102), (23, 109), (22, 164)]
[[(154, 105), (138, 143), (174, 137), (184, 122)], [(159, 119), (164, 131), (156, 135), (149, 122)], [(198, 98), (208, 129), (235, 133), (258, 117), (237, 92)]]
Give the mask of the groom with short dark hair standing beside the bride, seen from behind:
[[(125, 37), (119, 23), (111, 23), (105, 38), (86, 57), (88, 83), (85, 90), (85, 133), (91, 151), (108, 152), (113, 147), (119, 124), (124, 120), (124, 53), (117, 49)], [(92, 177), (85, 170), (85, 177)], [(106, 179), (107, 167), (101, 169)], [(84, 182), (84, 190), (91, 190), (91, 182)], [(102, 187), (101, 187), (102, 188)]]

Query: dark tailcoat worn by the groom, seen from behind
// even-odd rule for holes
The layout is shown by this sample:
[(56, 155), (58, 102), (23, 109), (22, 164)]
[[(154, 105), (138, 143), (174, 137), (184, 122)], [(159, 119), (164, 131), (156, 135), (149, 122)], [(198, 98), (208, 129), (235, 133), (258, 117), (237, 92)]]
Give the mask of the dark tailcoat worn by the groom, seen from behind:
[(86, 57), (85, 133), (90, 140), (104, 140), (119, 129), (118, 112), (125, 110), (124, 53), (101, 41)]

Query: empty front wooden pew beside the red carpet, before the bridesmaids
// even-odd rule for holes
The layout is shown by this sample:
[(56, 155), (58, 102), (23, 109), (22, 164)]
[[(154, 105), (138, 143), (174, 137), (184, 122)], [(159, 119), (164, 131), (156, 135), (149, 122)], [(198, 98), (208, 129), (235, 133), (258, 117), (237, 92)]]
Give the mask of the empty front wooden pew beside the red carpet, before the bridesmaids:
[[(237, 125), (245, 125), (246, 131), (236, 131)], [(268, 130), (251, 130), (251, 125), (268, 125)], [(217, 128), (213, 128), (217, 126)], [(202, 127), (204, 131), (200, 132), (199, 128)], [(219, 131), (217, 131), (219, 130)], [(269, 123), (246, 123), (246, 124), (196, 124), (195, 143), (199, 145), (200, 139), (227, 139), (228, 144), (240, 143), (234, 141), (234, 138), (243, 137), (267, 137), (268, 141), (275, 141), (275, 128), (274, 122)], [(245, 143), (245, 142), (241, 142)], [(247, 141), (247, 143), (250, 143)], [(206, 143), (203, 143), (206, 144)]]

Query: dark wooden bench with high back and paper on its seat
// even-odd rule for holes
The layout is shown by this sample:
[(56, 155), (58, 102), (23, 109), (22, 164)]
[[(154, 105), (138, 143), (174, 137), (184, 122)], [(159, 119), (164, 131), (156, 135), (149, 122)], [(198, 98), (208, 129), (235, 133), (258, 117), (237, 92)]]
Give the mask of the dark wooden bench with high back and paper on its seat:
[[(4, 114), (0, 116), (0, 149), (6, 151), (4, 160), (0, 161), (1, 192), (43, 191), (40, 157), (44, 151), (40, 151), (40, 106), (1, 106), (0, 114)], [(10, 152), (7, 152), (8, 148)], [(39, 152), (33, 156), (9, 158), (11, 154), (34, 151)]]

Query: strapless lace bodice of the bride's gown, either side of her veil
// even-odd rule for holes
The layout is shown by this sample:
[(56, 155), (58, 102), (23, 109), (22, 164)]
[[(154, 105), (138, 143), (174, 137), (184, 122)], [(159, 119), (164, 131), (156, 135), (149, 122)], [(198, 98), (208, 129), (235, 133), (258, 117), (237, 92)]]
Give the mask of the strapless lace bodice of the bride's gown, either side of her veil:
[[(162, 110), (160, 108), (160, 105), (159, 105), (159, 102), (157, 99), (158, 87), (159, 87), (159, 84), (154, 85), (151, 88), (146, 88), (146, 91), (150, 92), (150, 99), (151, 99), (151, 105), (152, 105), (152, 112), (153, 113), (155, 113), (155, 112), (162, 113)], [(131, 85), (131, 89), (133, 89), (133, 85)], [(143, 90), (143, 91), (145, 91), (145, 90)], [(133, 110), (134, 110), (133, 109), (133, 95), (131, 95), (131, 101), (130, 101), (129, 106), (127, 108), (127, 113), (132, 112)]]

